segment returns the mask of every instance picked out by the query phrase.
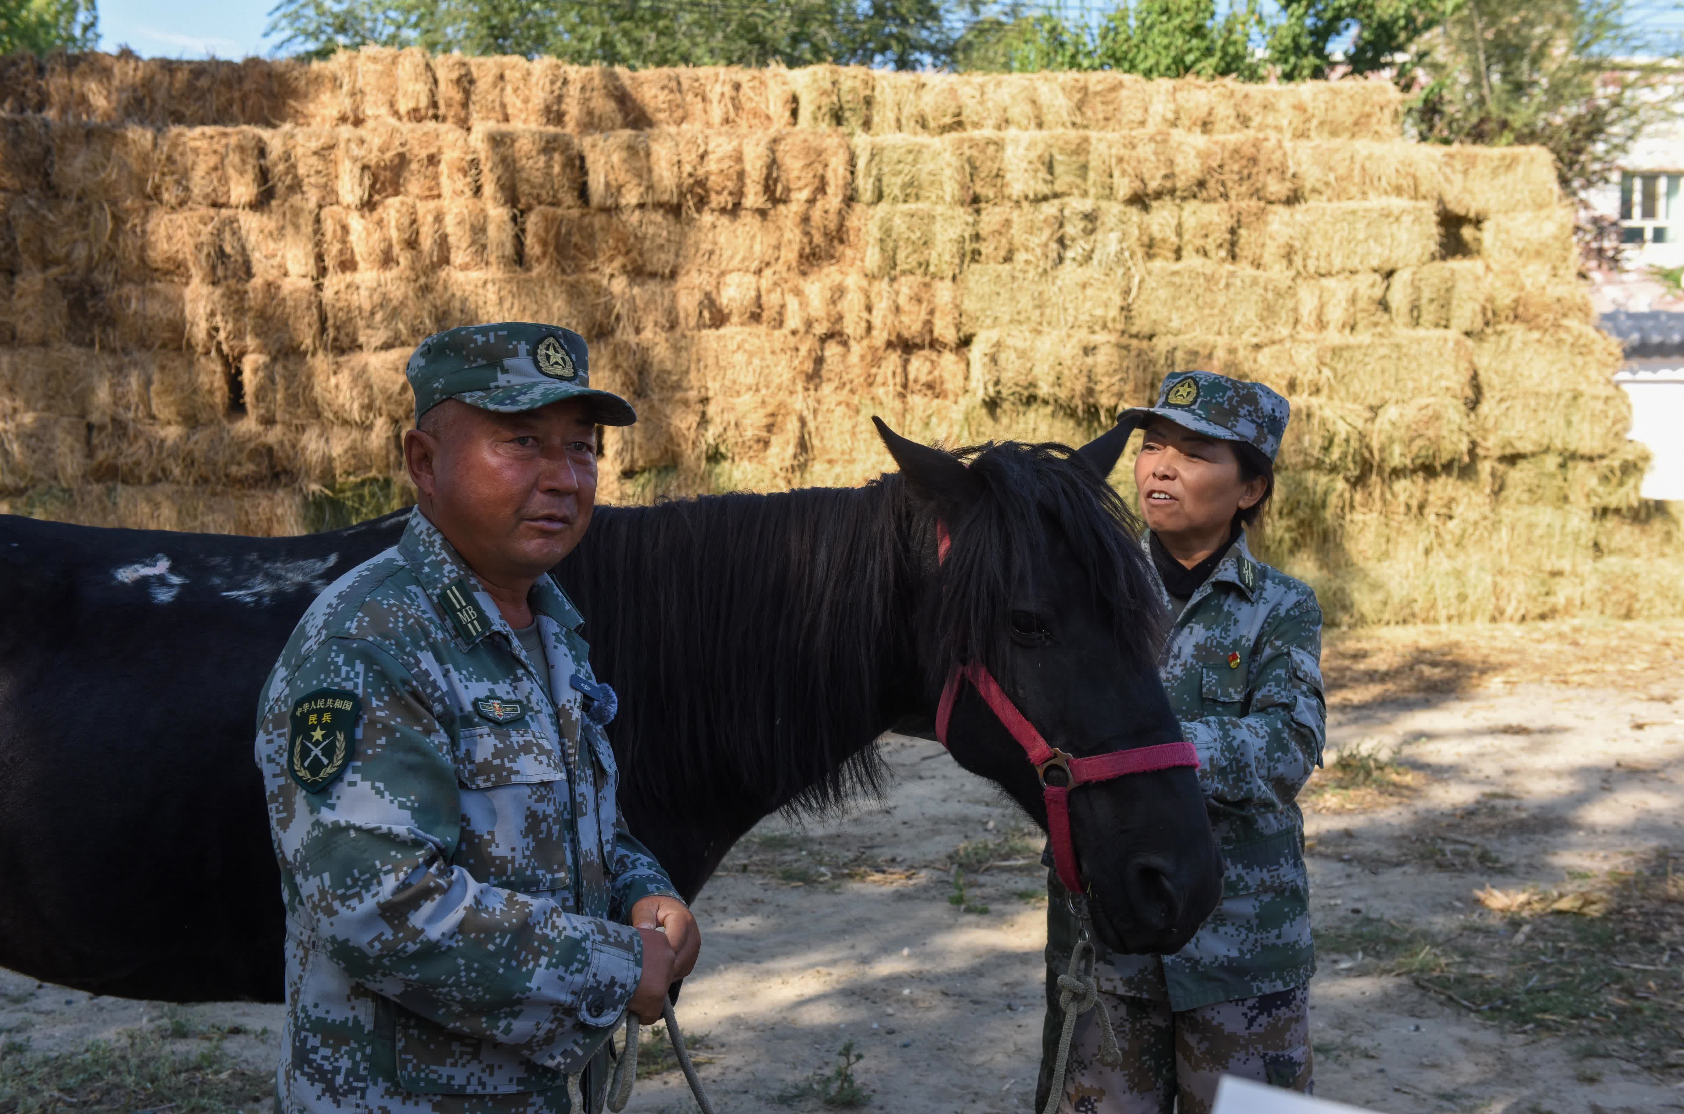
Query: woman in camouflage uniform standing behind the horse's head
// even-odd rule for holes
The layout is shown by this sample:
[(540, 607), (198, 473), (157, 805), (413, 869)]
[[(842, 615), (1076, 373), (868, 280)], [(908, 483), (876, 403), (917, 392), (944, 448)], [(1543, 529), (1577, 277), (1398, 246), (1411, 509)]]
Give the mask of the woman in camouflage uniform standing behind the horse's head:
[[(1250, 460), (1271, 485), (1287, 418), (1287, 399), (1275, 391), (1194, 371), (1169, 376), (1157, 406), (1127, 410), (1120, 421), (1148, 428), (1142, 455), (1159, 452), (1154, 442), (1186, 438), (1191, 453), (1212, 457), (1212, 442), (1226, 442), (1241, 477)], [(1147, 499), (1157, 480), (1142, 475), (1159, 465), (1138, 463)], [(1268, 485), (1258, 487), (1250, 514), (1261, 509)], [(1150, 522), (1154, 507), (1145, 509)], [(1160, 674), (1186, 738), (1199, 750), (1199, 782), (1226, 861), (1223, 902), (1174, 956), (1100, 952), (1100, 1004), (1110, 1011), (1123, 1062), (1098, 1062), (1098, 1025), (1091, 1013), (1081, 1015), (1063, 1111), (1206, 1114), (1223, 1074), (1310, 1090), (1307, 984), (1315, 956), (1295, 797), (1322, 758), (1322, 612), (1308, 585), (1251, 556), (1243, 517), (1246, 511), (1228, 528), (1231, 539), (1202, 563), (1212, 568), (1197, 586), (1187, 573), (1202, 570), (1165, 568), (1160, 543), (1150, 541), (1164, 602), (1175, 615)], [(1189, 595), (1175, 595), (1170, 580)], [(1052, 875), (1036, 1109), (1044, 1109), (1051, 1087), (1064, 1023), (1058, 976), (1074, 944), (1076, 919)]]

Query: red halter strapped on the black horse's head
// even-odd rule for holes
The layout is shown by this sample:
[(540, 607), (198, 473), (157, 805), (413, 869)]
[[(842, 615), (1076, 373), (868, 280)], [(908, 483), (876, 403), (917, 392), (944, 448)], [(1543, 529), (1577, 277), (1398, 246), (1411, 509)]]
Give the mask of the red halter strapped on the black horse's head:
[[(936, 522), (936, 560), (946, 561), (953, 546), (946, 524)], [(1147, 774), (1152, 770), (1169, 770), (1174, 767), (1199, 765), (1199, 752), (1192, 743), (1159, 743), (1157, 747), (1137, 747), (1133, 750), (1113, 750), (1106, 755), (1076, 758), (1056, 747), (1049, 747), (1041, 738), (1041, 731), (1017, 710), (1012, 698), (1005, 694), (1000, 683), (994, 679), (989, 667), (978, 661), (955, 664), (941, 686), (941, 701), (936, 704), (936, 738), (946, 747), (948, 720), (953, 716), (953, 701), (958, 699), (960, 681), (970, 681), (982, 696), (989, 710), (994, 711), (1000, 725), (1010, 731), (1017, 745), (1029, 755), (1029, 763), (1036, 767), (1041, 779), (1041, 795), (1047, 806), (1047, 836), (1052, 843), (1052, 868), (1058, 880), (1071, 893), (1081, 893), (1081, 875), (1076, 871), (1076, 848), (1069, 838), (1069, 790), (1090, 782), (1108, 782), (1125, 774)], [(1063, 770), (1064, 784), (1047, 780), (1049, 770)]]

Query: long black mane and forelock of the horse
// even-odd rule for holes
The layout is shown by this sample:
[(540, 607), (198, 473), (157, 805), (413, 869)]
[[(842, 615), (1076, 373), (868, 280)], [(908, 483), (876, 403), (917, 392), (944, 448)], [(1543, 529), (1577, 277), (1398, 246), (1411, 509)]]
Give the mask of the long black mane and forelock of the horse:
[(736, 795), (753, 822), (879, 792), (884, 710), (933, 706), (955, 661), (1007, 661), (1010, 600), (1046, 568), (1047, 528), (1096, 571), (1086, 588), (1120, 645), (1155, 659), (1162, 607), (1116, 492), (1063, 445), (958, 455), (985, 497), (948, 522), (940, 570), (935, 511), (901, 475), (598, 509), (556, 571), (620, 693), (610, 735), (640, 795), (675, 816)]

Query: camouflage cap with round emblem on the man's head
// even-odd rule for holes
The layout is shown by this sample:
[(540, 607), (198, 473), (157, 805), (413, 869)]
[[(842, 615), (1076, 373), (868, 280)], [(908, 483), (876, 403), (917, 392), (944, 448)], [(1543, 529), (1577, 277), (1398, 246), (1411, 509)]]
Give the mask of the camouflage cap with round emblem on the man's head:
[(404, 369), (416, 393), (416, 421), (446, 398), (512, 415), (568, 398), (589, 399), (601, 425), (632, 425), (632, 403), (591, 388), (584, 337), (559, 325), (497, 322), (428, 337)]

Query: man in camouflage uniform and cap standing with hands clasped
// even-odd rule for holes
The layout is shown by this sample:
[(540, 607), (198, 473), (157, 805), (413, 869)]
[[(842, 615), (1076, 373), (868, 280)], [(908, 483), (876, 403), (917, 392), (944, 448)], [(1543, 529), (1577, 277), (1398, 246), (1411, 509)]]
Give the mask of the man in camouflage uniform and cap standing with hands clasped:
[(259, 708), (278, 1111), (559, 1114), (581, 1074), (594, 1111), (610, 1033), (699, 947), (616, 814), (615, 696), (547, 575), (589, 524), (594, 425), (635, 415), (549, 325), (438, 334), (408, 378), (419, 506), (310, 607)]

